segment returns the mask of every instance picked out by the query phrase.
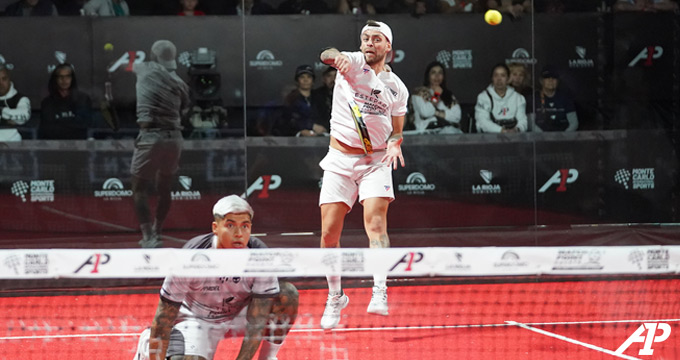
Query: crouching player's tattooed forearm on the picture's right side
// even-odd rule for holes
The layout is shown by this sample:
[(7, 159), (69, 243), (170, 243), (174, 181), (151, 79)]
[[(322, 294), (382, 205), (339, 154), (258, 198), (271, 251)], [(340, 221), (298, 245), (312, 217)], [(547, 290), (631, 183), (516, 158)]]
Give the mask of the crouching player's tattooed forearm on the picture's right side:
[(274, 304), (273, 298), (254, 297), (248, 305), (246, 334), (236, 360), (251, 360), (262, 342), (262, 334)]

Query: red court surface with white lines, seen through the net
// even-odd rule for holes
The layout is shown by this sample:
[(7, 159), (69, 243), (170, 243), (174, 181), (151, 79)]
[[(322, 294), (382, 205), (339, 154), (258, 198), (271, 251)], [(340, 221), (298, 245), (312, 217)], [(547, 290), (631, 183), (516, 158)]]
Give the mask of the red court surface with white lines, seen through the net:
[[(333, 331), (318, 325), (327, 291), (301, 290), (300, 316), (278, 358), (680, 359), (679, 286), (675, 279), (391, 286), (386, 317), (366, 314), (371, 290), (353, 288)], [(131, 360), (157, 302), (155, 294), (2, 297), (0, 359)], [(670, 336), (651, 343), (652, 355), (639, 355), (642, 341), (614, 353), (643, 323), (668, 324)], [(234, 359), (239, 346), (240, 339), (223, 341), (215, 359)]]

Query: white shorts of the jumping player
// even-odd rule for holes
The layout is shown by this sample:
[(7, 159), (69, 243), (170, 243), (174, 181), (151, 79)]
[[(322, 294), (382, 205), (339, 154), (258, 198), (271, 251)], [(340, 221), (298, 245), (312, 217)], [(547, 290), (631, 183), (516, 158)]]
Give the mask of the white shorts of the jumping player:
[(359, 196), (359, 202), (368, 198), (394, 200), (392, 168), (381, 162), (385, 151), (371, 155), (348, 155), (329, 148), (319, 166), (324, 170), (319, 205), (342, 202), (350, 210)]

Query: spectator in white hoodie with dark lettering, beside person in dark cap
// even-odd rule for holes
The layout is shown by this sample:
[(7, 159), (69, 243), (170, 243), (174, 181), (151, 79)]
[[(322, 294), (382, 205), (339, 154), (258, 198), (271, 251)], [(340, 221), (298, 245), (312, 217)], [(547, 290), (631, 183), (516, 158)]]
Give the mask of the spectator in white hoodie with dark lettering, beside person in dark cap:
[(475, 122), (478, 132), (527, 131), (526, 100), (508, 86), (509, 73), (505, 64), (494, 66), (491, 85), (477, 95)]

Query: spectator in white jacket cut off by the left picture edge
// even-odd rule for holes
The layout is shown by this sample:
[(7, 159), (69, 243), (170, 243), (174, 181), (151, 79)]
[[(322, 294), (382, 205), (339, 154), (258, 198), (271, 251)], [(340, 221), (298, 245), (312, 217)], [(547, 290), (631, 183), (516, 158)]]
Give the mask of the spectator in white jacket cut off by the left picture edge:
[(0, 65), (0, 141), (21, 141), (17, 127), (31, 118), (31, 101), (14, 88), (9, 69)]

